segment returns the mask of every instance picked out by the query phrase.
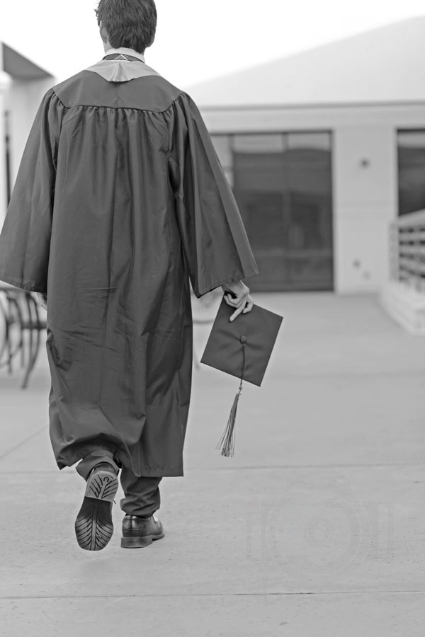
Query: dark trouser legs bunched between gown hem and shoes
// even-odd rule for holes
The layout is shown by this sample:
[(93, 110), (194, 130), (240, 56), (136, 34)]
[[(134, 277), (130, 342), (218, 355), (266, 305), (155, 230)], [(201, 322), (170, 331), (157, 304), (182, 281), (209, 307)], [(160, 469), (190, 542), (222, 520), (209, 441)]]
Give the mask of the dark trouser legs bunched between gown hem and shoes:
[[(84, 480), (96, 464), (109, 464), (118, 474), (120, 465), (112, 452), (107, 449), (96, 448), (77, 464), (77, 472)], [(150, 517), (161, 505), (159, 483), (162, 478), (137, 478), (125, 466), (121, 469), (120, 482), (124, 491), (124, 498), (120, 500), (121, 509), (128, 515)]]

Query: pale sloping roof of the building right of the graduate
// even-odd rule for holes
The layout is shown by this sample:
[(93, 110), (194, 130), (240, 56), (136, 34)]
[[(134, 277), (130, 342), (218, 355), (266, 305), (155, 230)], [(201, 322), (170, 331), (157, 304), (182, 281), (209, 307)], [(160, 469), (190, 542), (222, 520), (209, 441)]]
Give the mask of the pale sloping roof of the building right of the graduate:
[(190, 86), (203, 110), (327, 108), (425, 101), (425, 16)]

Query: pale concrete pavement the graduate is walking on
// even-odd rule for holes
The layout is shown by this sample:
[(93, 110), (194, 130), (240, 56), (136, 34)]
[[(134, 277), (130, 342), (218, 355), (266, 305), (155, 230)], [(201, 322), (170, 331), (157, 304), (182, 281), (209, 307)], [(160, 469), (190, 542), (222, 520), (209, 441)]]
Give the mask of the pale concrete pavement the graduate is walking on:
[(186, 475), (164, 479), (147, 549), (120, 549), (119, 505), (106, 549), (79, 549), (84, 484), (52, 456), (44, 350), (26, 391), (0, 370), (1, 636), (424, 637), (425, 338), (373, 296), (256, 302), (285, 318), (235, 456), (215, 446), (237, 379), (201, 366)]

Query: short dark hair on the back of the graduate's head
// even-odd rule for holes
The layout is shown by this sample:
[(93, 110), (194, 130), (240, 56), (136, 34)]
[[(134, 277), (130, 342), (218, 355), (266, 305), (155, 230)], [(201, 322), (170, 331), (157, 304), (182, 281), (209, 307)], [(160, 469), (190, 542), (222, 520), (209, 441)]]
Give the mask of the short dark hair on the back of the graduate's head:
[(154, 0), (100, 0), (95, 11), (114, 49), (144, 53), (152, 45), (157, 30)]

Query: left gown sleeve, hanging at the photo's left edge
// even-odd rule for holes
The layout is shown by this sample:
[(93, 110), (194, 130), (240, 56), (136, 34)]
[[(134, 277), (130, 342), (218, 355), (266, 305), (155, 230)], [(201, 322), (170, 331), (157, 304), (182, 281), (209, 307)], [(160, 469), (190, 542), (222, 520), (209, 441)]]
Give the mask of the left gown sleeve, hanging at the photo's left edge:
[(51, 89), (35, 116), (0, 234), (0, 280), (47, 292), (57, 147), (64, 107)]

